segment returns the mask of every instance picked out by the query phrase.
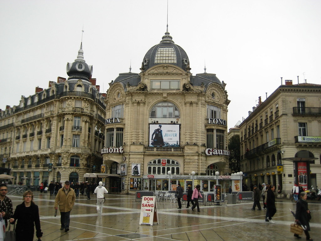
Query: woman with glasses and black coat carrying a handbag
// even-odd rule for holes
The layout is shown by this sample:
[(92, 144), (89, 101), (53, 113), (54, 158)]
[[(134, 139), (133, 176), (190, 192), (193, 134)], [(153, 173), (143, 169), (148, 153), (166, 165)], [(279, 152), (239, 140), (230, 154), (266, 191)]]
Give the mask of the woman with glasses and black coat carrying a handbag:
[(33, 202), (33, 193), (26, 191), (23, 193), (22, 204), (16, 207), (13, 218), (10, 223), (16, 220), (16, 240), (32, 241), (34, 236), (34, 226), (36, 226), (36, 236), (38, 239), (42, 237), (39, 219), (38, 206)]

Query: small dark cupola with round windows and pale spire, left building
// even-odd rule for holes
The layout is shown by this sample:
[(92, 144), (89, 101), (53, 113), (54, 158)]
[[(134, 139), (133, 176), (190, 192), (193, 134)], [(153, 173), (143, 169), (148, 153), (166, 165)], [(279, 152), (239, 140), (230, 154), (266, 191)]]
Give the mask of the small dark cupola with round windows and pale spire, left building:
[(89, 81), (91, 78), (92, 65), (86, 64), (86, 61), (83, 58), (82, 43), (80, 45), (77, 58), (75, 59), (74, 63), (67, 63), (66, 70), (67, 75), (69, 76), (68, 80), (82, 79)]

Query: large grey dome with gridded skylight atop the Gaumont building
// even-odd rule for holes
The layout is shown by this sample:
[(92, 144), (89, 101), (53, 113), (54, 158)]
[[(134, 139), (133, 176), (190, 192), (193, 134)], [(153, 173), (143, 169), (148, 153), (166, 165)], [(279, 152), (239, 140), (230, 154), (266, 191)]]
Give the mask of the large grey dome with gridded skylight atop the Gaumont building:
[(174, 43), (172, 36), (169, 35), (168, 25), (160, 43), (145, 54), (141, 71), (159, 64), (171, 64), (187, 71), (190, 70), (188, 56), (184, 49)]

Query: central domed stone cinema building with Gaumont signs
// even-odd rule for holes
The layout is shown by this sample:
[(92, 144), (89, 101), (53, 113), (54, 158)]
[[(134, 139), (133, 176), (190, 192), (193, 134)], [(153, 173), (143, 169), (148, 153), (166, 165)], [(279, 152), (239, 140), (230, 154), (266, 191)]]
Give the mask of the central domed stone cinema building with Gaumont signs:
[(180, 183), (208, 192), (216, 171), (228, 189), (226, 84), (215, 74), (193, 76), (168, 31), (140, 70), (119, 74), (106, 95), (101, 153), (112, 191), (172, 191)]

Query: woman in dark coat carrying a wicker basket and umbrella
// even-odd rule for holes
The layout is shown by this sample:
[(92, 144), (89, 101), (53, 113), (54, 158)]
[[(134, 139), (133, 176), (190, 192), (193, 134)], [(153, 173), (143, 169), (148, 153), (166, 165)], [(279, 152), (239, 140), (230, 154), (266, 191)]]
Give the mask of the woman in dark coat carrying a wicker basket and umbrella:
[[(307, 193), (300, 192), (300, 199), (297, 201), (297, 209), (295, 211), (295, 221), (300, 221), (301, 225), (306, 226), (307, 229), (304, 230), (307, 240), (313, 240), (310, 238), (310, 225), (309, 220), (311, 219), (310, 210), (308, 209), (307, 203)], [(298, 234), (294, 234), (294, 237), (301, 238)]]

